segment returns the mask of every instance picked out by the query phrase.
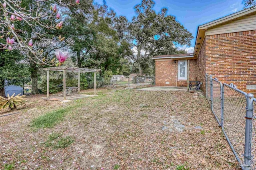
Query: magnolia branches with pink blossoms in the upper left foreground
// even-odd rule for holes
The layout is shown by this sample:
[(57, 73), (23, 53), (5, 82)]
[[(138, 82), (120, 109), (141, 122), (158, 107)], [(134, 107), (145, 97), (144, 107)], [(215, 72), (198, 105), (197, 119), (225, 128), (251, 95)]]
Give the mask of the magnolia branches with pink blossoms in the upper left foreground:
[[(32, 54), (28, 58), (37, 64), (47, 64), (49, 66), (60, 66), (69, 56), (68, 52), (56, 51), (55, 59), (48, 61), (43, 56), (43, 49), (33, 48), (33, 37), (41, 41), (52, 41), (58, 43), (64, 41), (65, 37), (58, 36), (57, 39), (49, 39), (47, 31), (42, 30), (58, 30), (62, 29), (63, 21), (60, 20), (61, 15), (58, 12), (56, 4), (52, 4), (49, 10), (44, 10), (44, 3), (47, 0), (36, 0), (34, 7), (36, 12), (32, 12), (31, 8), (22, 6), (21, 0), (0, 0), (0, 49), (4, 51), (12, 51), (18, 49)], [(61, 0), (56, 1), (58, 6), (74, 6), (80, 3), (80, 0), (70, 0), (63, 3)], [(35, 9), (33, 9), (35, 11)], [(32, 30), (31, 37), (26, 35), (26, 30), (22, 25), (28, 25)], [(32, 37), (33, 35), (33, 37)], [(2, 40), (1, 40), (2, 39)], [(5, 41), (6, 40), (6, 41)]]

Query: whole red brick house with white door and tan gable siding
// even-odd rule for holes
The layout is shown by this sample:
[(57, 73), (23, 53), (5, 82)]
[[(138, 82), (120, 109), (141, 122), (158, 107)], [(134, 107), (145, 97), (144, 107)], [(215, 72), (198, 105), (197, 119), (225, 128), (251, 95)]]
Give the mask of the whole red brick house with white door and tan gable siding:
[[(256, 8), (200, 25), (193, 54), (153, 59), (156, 86), (187, 86), (186, 69), (189, 67), (189, 80), (201, 81), (202, 90), (205, 90), (207, 73), (245, 92), (256, 93)], [(183, 66), (188, 61), (189, 66)]]

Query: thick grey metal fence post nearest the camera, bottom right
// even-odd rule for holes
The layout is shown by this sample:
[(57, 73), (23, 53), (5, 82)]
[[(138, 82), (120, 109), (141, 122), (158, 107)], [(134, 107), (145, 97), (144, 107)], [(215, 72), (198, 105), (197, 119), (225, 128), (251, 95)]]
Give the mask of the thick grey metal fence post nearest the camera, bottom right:
[(253, 97), (254, 96), (251, 93), (246, 95), (244, 170), (250, 170), (250, 167), (251, 167)]

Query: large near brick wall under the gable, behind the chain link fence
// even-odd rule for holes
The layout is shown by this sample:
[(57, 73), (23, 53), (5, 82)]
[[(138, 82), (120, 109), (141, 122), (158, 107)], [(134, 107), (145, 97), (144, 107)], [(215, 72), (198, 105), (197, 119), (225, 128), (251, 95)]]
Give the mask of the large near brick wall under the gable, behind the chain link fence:
[(206, 73), (222, 83), (234, 83), (240, 90), (256, 94), (256, 90), (246, 89), (247, 84), (256, 84), (256, 30), (208, 35), (204, 43)]

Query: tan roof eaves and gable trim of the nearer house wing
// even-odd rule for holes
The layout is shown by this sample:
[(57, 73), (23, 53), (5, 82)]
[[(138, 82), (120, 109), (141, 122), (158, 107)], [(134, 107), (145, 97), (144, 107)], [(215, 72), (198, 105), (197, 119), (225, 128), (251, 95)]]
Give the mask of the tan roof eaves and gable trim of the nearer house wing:
[[(211, 21), (211, 22), (208, 22), (208, 23), (198, 26), (198, 31), (197, 31), (197, 35), (196, 35), (196, 43), (195, 43), (195, 48), (194, 48), (194, 53), (193, 53), (194, 57), (198, 56), (198, 53), (199, 53), (202, 43), (204, 41), (204, 37), (206, 35), (206, 31), (208, 29), (212, 29), (215, 27), (219, 27), (221, 25), (225, 25), (225, 24), (229, 23), (230, 21), (234, 21), (234, 20), (237, 20), (240, 18), (242, 19), (243, 17), (250, 16), (254, 13), (256, 14), (256, 8), (247, 8), (245, 10), (236, 12), (234, 14), (222, 17), (218, 20), (214, 20), (214, 21)], [(235, 25), (235, 24), (236, 23), (234, 23), (233, 25)], [(246, 27), (246, 25), (250, 25), (250, 26)], [(255, 25), (254, 25), (254, 27), (255, 27)], [(237, 28), (236, 30), (234, 30), (234, 29), (227, 30), (226, 29), (226, 31), (217, 32), (215, 34), (232, 33), (232, 32), (249, 31), (249, 30), (254, 30), (254, 28), (252, 28), (251, 24), (245, 24), (244, 27), (241, 27), (241, 25), (240, 25), (240, 27)]]

